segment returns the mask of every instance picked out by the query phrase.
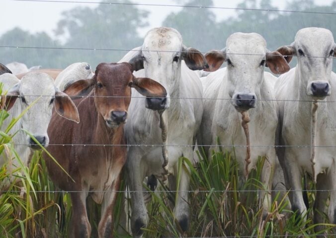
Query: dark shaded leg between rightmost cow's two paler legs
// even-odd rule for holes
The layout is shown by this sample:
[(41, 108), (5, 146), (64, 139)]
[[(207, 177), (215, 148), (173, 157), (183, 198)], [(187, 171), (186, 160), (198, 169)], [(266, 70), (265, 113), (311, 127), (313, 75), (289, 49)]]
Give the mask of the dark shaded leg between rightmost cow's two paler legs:
[[(328, 191), (319, 191), (319, 190), (328, 190), (330, 184), (328, 182), (328, 176), (326, 174), (319, 174), (316, 180), (316, 198), (314, 203), (314, 224), (323, 223), (323, 213), (326, 211), (326, 202), (329, 196)], [(316, 232), (324, 229), (324, 226), (317, 226), (314, 228)]]

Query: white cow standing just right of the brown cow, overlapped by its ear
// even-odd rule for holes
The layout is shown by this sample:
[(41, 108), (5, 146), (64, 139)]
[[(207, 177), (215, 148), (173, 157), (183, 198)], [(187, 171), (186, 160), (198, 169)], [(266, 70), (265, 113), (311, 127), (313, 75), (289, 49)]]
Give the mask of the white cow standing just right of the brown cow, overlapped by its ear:
[[(153, 78), (166, 88), (167, 98), (145, 98), (135, 90), (132, 91), (130, 117), (125, 125), (125, 133), (129, 144), (161, 144), (160, 117), (153, 110), (165, 110), (163, 118), (168, 127), (167, 144), (176, 145), (167, 147), (168, 179), (170, 189), (176, 190), (177, 161), (181, 156), (192, 160), (192, 145), (203, 113), (200, 100), (202, 85), (197, 73), (190, 69), (206, 68), (206, 60), (196, 49), (183, 46), (178, 31), (160, 27), (150, 30), (143, 46), (128, 53), (122, 61), (138, 62), (138, 69), (144, 70), (136, 72), (137, 77), (142, 75)], [(126, 169), (130, 190), (142, 191), (146, 176), (161, 178), (166, 173), (163, 162), (161, 146), (129, 147)], [(189, 224), (188, 189), (188, 173), (182, 170), (174, 217), (183, 231), (188, 229)], [(135, 236), (141, 237), (141, 228), (145, 228), (148, 223), (144, 196), (142, 192), (135, 192), (131, 197), (131, 229)]]

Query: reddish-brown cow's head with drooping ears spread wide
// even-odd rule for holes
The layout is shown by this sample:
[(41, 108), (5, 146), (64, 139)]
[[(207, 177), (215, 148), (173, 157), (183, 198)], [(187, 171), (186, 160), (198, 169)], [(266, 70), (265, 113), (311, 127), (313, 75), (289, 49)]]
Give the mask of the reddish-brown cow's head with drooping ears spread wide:
[(130, 63), (100, 63), (95, 76), (89, 80), (79, 80), (70, 85), (65, 92), (81, 95), (94, 88), (94, 103), (97, 112), (107, 126), (116, 127), (125, 123), (131, 100), (131, 87), (142, 95), (153, 98), (166, 98), (166, 89), (150, 78), (137, 78), (132, 72), (136, 67)]

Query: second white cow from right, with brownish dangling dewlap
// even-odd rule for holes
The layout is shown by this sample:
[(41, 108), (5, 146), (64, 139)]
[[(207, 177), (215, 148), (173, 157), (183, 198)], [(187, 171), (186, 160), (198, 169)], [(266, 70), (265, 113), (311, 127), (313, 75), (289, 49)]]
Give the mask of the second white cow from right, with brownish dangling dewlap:
[[(264, 72), (267, 65), (273, 73), (284, 73), (289, 65), (279, 52), (269, 52), (266, 41), (256, 33), (234, 33), (222, 51), (206, 54), (210, 70), (217, 70), (223, 61), (228, 66), (209, 74), (204, 89), (204, 113), (200, 128), (201, 143), (210, 156), (218, 150), (217, 138), (224, 149), (235, 151), (241, 172), (247, 175), (255, 168), (258, 156), (265, 156), (261, 181), (265, 190), (272, 186), (272, 176), (277, 156), (275, 132), (277, 105), (273, 100), (272, 74)], [(228, 99), (228, 100), (227, 100)], [(242, 115), (250, 115), (250, 163), (247, 162), (247, 136), (241, 125)], [(199, 143), (199, 141), (197, 141)], [(201, 144), (200, 143), (200, 144)], [(238, 145), (238, 147), (232, 146)], [(243, 145), (243, 147), (239, 147)], [(262, 145), (262, 146), (260, 146)], [(270, 211), (271, 195), (261, 190), (263, 216)]]

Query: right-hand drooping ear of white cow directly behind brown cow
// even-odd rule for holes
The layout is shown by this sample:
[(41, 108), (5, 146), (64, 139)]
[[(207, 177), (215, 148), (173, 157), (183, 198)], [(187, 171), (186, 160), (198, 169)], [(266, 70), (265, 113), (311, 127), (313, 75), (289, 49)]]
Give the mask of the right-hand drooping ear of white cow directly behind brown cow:
[(186, 48), (183, 46), (181, 57), (191, 70), (209, 68), (205, 57), (195, 48)]

